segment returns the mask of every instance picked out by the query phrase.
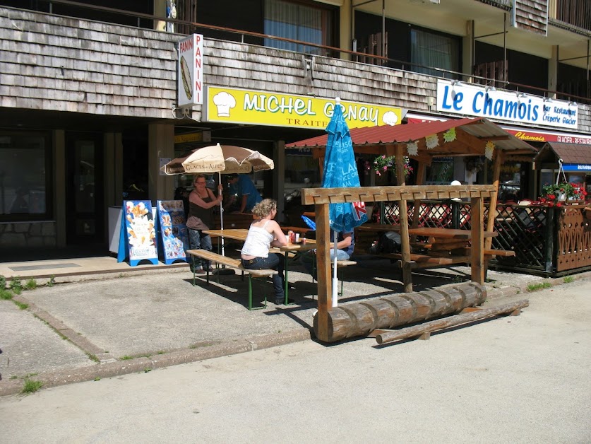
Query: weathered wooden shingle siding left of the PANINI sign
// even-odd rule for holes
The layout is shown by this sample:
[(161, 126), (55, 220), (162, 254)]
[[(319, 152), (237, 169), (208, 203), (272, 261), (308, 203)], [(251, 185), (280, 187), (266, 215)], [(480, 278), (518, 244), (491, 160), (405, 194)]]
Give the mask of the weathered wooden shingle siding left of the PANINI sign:
[(162, 119), (179, 36), (0, 8), (3, 107)]

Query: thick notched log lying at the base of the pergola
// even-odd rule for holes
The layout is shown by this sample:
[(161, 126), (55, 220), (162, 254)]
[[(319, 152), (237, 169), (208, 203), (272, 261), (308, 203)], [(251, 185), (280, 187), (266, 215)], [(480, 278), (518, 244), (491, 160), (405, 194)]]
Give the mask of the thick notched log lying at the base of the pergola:
[[(386, 296), (361, 303), (344, 304), (326, 313), (326, 330), (318, 334), (318, 315), (314, 332), (321, 341), (366, 336), (379, 328), (393, 328), (433, 317), (457, 313), (486, 300), (486, 288), (474, 282), (441, 290), (421, 291)], [(320, 322), (322, 324), (323, 322)]]

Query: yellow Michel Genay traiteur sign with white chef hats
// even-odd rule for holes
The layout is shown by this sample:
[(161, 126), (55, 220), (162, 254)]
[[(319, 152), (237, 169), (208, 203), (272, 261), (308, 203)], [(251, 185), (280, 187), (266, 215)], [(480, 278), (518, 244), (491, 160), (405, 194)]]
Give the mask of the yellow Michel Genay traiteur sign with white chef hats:
[[(397, 125), (400, 108), (341, 100), (342, 114), (350, 128)], [(208, 122), (324, 129), (335, 108), (335, 98), (271, 93), (208, 86), (204, 119)]]

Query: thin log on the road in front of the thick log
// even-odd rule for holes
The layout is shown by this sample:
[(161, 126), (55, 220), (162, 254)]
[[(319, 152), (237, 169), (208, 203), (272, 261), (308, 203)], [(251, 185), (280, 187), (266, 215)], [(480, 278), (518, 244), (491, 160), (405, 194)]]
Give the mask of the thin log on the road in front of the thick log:
[(407, 327), (399, 329), (395, 332), (385, 332), (376, 335), (376, 341), (378, 344), (384, 344), (386, 342), (398, 341), (400, 339), (407, 339), (410, 337), (422, 336), (425, 333), (434, 332), (455, 325), (466, 324), (467, 322), (474, 322), (481, 320), (486, 317), (493, 317), (496, 315), (502, 315), (503, 313), (515, 312), (521, 308), (530, 305), (530, 301), (527, 299), (520, 300), (515, 303), (509, 303), (499, 305), (497, 307), (483, 308), (482, 310), (467, 312), (463, 315), (455, 315), (446, 317), (445, 319), (438, 319), (430, 322), (425, 322), (421, 325), (414, 325), (413, 327)]

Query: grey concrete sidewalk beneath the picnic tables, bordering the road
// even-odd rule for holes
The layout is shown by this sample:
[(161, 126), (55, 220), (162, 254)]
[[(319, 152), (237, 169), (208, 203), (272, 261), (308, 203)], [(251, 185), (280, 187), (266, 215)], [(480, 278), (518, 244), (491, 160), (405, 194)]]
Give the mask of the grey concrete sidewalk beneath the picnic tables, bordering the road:
[[(207, 286), (199, 276), (192, 286), (186, 264), (129, 267), (112, 257), (0, 264), (0, 275), (23, 284), (32, 277), (55, 283), (16, 296), (26, 310), (0, 300), (0, 395), (19, 392), (25, 378), (51, 387), (311, 339), (316, 284), (297, 263), (293, 270), (294, 305), (249, 311), (247, 279), (222, 275)], [(532, 282), (564, 282), (492, 270), (488, 277), (488, 304), (525, 293)], [(362, 257), (346, 269), (340, 302), (402, 293), (399, 279), (390, 261)], [(468, 267), (413, 273), (415, 291), (468, 280)], [(260, 285), (272, 293), (270, 282)], [(261, 296), (254, 303), (262, 307)]]

